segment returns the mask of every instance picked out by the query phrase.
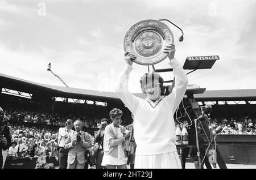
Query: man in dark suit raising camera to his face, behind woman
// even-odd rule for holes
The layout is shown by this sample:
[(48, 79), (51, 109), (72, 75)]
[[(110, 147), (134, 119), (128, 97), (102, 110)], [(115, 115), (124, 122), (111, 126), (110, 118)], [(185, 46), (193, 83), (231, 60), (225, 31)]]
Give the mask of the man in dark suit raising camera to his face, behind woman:
[(95, 136), (95, 143), (98, 143), (96, 147), (96, 151), (94, 152), (94, 157), (96, 158), (96, 169), (104, 169), (106, 166), (101, 166), (102, 158), (104, 156), (103, 151), (103, 139), (104, 139), (104, 130), (105, 127), (108, 126), (108, 119), (103, 118), (101, 119), (100, 130), (98, 130)]

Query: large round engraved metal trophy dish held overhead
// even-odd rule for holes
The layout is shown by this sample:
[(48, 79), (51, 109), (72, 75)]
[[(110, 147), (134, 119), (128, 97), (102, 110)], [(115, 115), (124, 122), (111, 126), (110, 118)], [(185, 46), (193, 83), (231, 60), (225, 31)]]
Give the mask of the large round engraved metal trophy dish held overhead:
[[(150, 38), (148, 38), (148, 36), (143, 36), (144, 39), (148, 38), (148, 41), (146, 43), (146, 46), (145, 44), (142, 44), (142, 47), (144, 49), (149, 49), (144, 50), (143, 48), (141, 48), (141, 50), (144, 51), (143, 54), (141, 52), (138, 52), (138, 50), (135, 48), (135, 42), (139, 41), (136, 41), (138, 39), (138, 36), (142, 36), (142, 33), (147, 33), (148, 35), (148, 32), (152, 32), (152, 34), (155, 34), (155, 36), (157, 36), (158, 38), (154, 40), (152, 37), (151, 40)], [(151, 50), (152, 55), (147, 55), (146, 53), (150, 51), (150, 48), (152, 46), (154, 46), (154, 42), (159, 41), (160, 45), (158, 43), (158, 48), (153, 47), (153, 50)], [(146, 19), (135, 23), (127, 30), (125, 39), (123, 40), (123, 49), (125, 50), (125, 52), (128, 51), (137, 56), (137, 59), (134, 60), (135, 63), (138, 63), (139, 65), (149, 66), (162, 62), (168, 57), (168, 54), (164, 53), (163, 50), (166, 45), (170, 43), (174, 44), (174, 35), (170, 27), (168, 27), (168, 25), (164, 24), (163, 22), (160, 22), (159, 20)]]

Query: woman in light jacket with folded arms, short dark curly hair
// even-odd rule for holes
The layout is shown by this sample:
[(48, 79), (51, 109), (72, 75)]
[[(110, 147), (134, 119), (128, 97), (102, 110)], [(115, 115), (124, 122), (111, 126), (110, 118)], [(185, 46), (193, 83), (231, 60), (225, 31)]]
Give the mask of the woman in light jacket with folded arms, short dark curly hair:
[(126, 128), (119, 125), (121, 122), (122, 111), (114, 108), (109, 113), (112, 123), (106, 126), (104, 131), (104, 156), (102, 158), (102, 166), (107, 169), (126, 169), (126, 156), (123, 151), (125, 140), (130, 134), (125, 135)]

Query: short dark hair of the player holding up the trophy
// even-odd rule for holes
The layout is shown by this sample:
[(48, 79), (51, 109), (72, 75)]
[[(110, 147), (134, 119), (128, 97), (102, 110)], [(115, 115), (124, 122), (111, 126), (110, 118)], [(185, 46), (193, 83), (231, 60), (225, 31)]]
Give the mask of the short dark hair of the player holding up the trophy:
[(160, 88), (161, 88), (161, 91), (162, 91), (163, 82), (164, 82), (162, 76), (160, 76), (160, 74), (158, 74), (156, 72), (150, 72), (150, 73), (143, 74), (143, 76), (141, 77), (141, 80), (139, 80), (139, 83), (141, 83), (142, 92), (145, 92), (144, 86), (147, 85), (150, 82), (151, 83), (152, 82), (160, 83)]

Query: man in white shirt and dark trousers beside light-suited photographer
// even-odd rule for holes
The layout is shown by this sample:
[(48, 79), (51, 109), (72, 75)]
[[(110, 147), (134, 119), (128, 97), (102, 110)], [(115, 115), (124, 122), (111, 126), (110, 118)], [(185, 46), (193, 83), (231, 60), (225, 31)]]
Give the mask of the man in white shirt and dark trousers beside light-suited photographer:
[(74, 132), (71, 129), (72, 127), (73, 127), (73, 122), (71, 119), (68, 119), (65, 122), (65, 127), (59, 128), (58, 145), (60, 148), (59, 149), (60, 169), (67, 169), (67, 166), (68, 166), (68, 149), (64, 149), (64, 144), (66, 139), (68, 138), (68, 134)]

